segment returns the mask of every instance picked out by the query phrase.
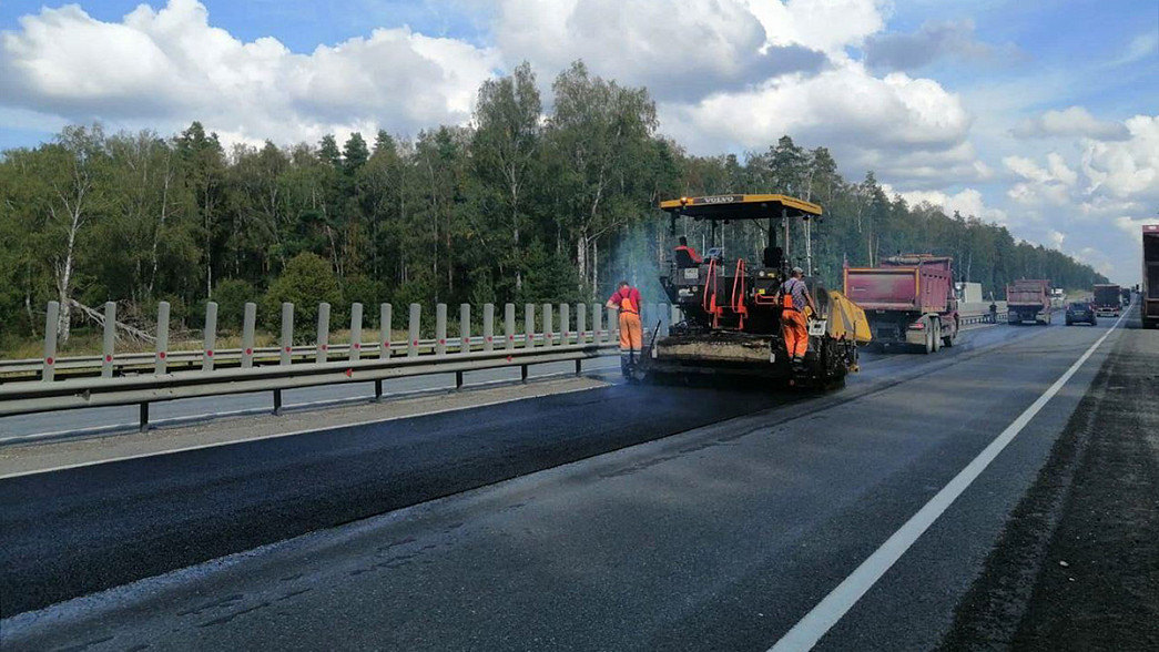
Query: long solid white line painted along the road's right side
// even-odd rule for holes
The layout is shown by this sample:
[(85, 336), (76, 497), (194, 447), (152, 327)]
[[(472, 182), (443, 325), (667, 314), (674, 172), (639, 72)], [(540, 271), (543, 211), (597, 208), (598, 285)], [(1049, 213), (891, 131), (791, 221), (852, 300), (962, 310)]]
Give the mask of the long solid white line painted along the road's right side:
[[(1125, 314), (1124, 314), (1125, 316)], [(930, 499), (917, 514), (905, 521), (905, 525), (895, 532), (881, 548), (874, 551), (861, 563), (845, 581), (831, 591), (816, 607), (812, 608), (797, 624), (793, 625), (770, 652), (803, 652), (812, 650), (814, 645), (825, 636), (845, 614), (861, 600), (874, 584), (910, 549), (934, 521), (962, 495), (963, 491), (982, 475), (982, 471), (994, 461), (994, 457), (1003, 452), (1006, 446), (1014, 440), (1018, 433), (1022, 432), (1030, 419), (1071, 380), (1071, 376), (1087, 361), (1096, 349), (1118, 328), (1123, 317), (1111, 325), (1085, 353), (1066, 369), (1058, 380), (1051, 384), (1034, 403), (1030, 404), (1006, 430), (990, 442), (982, 453), (965, 466), (949, 484), (942, 488), (936, 496)]]

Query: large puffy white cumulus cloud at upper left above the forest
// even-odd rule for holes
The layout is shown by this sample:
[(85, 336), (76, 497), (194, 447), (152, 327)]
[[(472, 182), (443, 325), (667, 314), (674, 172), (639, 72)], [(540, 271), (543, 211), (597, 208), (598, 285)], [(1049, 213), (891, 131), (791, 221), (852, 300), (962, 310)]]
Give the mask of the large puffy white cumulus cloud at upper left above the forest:
[(20, 28), (0, 38), (0, 104), (162, 130), (201, 119), (242, 140), (462, 123), (500, 65), (491, 49), (406, 28), (309, 54), (275, 38), (243, 43), (211, 27), (196, 0), (140, 5), (118, 23), (76, 5), (44, 8)]

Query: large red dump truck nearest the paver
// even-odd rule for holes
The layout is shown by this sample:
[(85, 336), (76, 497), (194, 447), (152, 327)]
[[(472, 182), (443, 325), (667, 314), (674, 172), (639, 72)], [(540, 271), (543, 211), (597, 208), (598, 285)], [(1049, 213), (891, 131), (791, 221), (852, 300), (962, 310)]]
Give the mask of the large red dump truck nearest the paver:
[(910, 254), (846, 268), (845, 295), (866, 312), (875, 343), (933, 353), (957, 339), (954, 258)]

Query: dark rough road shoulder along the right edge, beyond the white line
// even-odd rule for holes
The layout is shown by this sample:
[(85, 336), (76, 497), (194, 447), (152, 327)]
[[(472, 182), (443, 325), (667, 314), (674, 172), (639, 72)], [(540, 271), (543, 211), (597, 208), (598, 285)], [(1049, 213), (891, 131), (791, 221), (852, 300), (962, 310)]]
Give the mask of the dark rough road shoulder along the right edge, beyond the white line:
[(1128, 330), (942, 650), (1159, 649), (1159, 334)]

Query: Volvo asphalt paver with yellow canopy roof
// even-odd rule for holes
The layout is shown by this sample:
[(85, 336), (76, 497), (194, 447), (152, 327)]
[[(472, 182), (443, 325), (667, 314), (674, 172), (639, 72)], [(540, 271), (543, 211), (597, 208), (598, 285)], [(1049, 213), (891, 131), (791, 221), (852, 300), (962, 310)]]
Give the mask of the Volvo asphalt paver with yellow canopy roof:
[[(659, 207), (671, 217), (673, 237), (677, 218), (707, 220), (710, 247), (699, 262), (686, 250), (673, 250), (659, 280), (684, 318), (663, 337), (656, 336), (656, 324), (644, 324), (653, 337), (646, 338), (636, 380), (715, 373), (824, 388), (843, 384), (845, 375), (857, 371), (858, 345), (870, 339), (865, 313), (840, 292), (826, 291), (818, 278), (804, 279), (819, 313), (807, 310), (804, 365), (790, 365), (781, 335), (781, 303), (775, 295), (793, 268), (787, 255), (789, 220), (817, 219), (821, 206), (782, 195), (724, 195), (685, 197)], [(719, 224), (732, 220), (766, 222), (767, 246), (759, 259), (729, 257), (717, 243), (717, 234), (723, 240)]]

